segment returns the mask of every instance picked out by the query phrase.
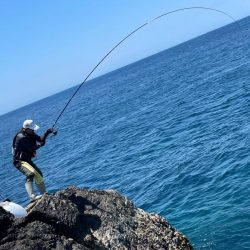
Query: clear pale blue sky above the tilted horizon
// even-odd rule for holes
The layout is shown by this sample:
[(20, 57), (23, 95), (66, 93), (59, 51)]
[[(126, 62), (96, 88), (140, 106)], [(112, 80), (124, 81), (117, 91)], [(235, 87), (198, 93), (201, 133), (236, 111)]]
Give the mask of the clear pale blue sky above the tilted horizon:
[[(235, 19), (250, 14), (247, 0), (0, 0), (0, 114), (81, 83), (136, 27), (190, 6), (216, 8)], [(230, 22), (204, 10), (166, 16), (121, 45), (93, 77)]]

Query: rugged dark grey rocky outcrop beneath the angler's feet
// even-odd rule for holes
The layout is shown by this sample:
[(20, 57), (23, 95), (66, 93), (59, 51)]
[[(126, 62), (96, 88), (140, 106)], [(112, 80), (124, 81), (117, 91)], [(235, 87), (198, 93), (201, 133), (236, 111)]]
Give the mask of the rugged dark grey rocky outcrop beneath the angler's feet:
[(164, 218), (113, 190), (44, 194), (24, 218), (0, 207), (0, 249), (192, 249)]

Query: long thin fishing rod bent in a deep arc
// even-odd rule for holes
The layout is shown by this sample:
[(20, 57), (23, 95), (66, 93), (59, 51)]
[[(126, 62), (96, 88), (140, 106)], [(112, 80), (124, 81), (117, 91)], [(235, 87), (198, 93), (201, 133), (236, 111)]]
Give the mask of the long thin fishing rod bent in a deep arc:
[[(72, 101), (72, 99), (75, 97), (75, 95), (77, 94), (77, 92), (80, 90), (80, 88), (83, 86), (83, 84), (88, 80), (88, 78), (92, 75), (92, 73), (97, 69), (97, 67), (121, 44), (123, 43), (125, 40), (127, 40), (130, 36), (132, 36), (134, 33), (136, 33), (137, 31), (139, 31), (140, 29), (142, 29), (143, 27), (145, 27), (146, 25), (173, 13), (179, 12), (179, 11), (185, 11), (185, 10), (193, 10), (193, 9), (201, 9), (201, 10), (209, 10), (209, 11), (213, 11), (213, 12), (217, 12), (220, 14), (223, 14), (224, 16), (229, 17), (232, 21), (236, 21), (231, 15), (227, 14), (224, 11), (221, 10), (217, 10), (214, 8), (209, 8), (209, 7), (186, 7), (186, 8), (180, 8), (180, 9), (176, 9), (173, 11), (169, 11), (166, 12), (164, 14), (161, 14), (160, 16), (157, 16), (155, 18), (153, 18), (152, 20), (142, 24), (141, 26), (137, 27), (136, 29), (134, 29), (132, 32), (130, 32), (128, 35), (126, 35), (122, 40), (120, 40), (97, 64), (96, 66), (90, 71), (90, 73), (86, 76), (86, 78), (83, 80), (83, 82), (78, 86), (78, 88), (76, 89), (76, 91), (73, 93), (73, 95), (70, 97), (70, 99), (68, 100), (68, 102), (66, 103), (66, 105), (64, 106), (64, 108), (62, 109), (62, 111), (60, 112), (60, 114), (58, 115), (58, 117), (56, 118), (52, 128), (54, 129), (55, 125), (57, 124), (58, 120), (61, 118), (62, 114), (64, 113), (64, 111), (66, 110), (66, 108), (68, 107), (68, 105), (70, 104), (70, 102)], [(56, 134), (56, 131), (54, 132)]]

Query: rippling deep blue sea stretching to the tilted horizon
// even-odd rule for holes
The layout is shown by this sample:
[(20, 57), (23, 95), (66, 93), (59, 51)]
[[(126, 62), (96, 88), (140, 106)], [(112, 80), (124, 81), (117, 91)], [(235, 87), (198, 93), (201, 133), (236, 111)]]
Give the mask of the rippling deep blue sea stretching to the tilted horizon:
[[(87, 82), (35, 160), (48, 191), (116, 189), (195, 249), (250, 249), (250, 18), (239, 25)], [(74, 91), (0, 117), (3, 196), (28, 202), (11, 157), (22, 122), (42, 133)]]

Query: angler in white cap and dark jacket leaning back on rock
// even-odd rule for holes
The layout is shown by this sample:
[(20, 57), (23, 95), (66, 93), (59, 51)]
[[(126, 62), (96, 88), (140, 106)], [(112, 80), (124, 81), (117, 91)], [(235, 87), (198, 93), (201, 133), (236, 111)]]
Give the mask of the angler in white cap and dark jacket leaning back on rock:
[[(26, 176), (25, 188), (31, 202), (46, 192), (42, 171), (35, 165), (32, 158), (36, 157), (36, 150), (45, 145), (48, 135), (53, 133), (53, 129), (49, 128), (44, 135), (39, 136), (35, 133), (38, 129), (39, 126), (33, 120), (25, 120), (12, 143), (13, 164)], [(39, 196), (34, 193), (33, 180), (41, 194)]]

